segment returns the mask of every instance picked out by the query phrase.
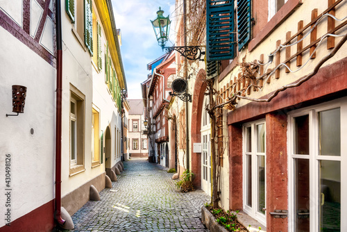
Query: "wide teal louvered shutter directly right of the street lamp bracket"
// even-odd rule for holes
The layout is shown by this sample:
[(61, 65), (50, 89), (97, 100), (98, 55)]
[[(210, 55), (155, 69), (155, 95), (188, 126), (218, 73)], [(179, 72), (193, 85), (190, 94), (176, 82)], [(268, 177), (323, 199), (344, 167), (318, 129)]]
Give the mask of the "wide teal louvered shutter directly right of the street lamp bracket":
[(234, 1), (206, 2), (207, 60), (230, 60), (235, 57)]

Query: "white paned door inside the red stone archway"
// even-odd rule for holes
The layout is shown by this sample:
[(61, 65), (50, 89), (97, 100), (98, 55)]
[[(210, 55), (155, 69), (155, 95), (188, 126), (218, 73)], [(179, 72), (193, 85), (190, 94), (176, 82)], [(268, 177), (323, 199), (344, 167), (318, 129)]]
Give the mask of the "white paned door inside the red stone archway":
[(203, 101), (201, 117), (201, 188), (211, 196), (211, 124), (210, 116), (205, 110), (207, 97)]

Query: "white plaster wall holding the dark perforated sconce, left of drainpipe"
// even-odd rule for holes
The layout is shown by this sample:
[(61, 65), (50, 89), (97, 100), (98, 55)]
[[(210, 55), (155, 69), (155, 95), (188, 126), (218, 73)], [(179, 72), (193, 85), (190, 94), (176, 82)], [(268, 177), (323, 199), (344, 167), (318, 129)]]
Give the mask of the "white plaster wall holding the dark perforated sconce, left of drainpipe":
[[(10, 154), (14, 221), (54, 198), (56, 69), (2, 27), (0, 41), (0, 188), (6, 189), (5, 155)], [(27, 87), (26, 104), (23, 114), (6, 117), (12, 113), (12, 85)], [(1, 215), (5, 201), (2, 192)], [(0, 227), (4, 224), (1, 219)]]

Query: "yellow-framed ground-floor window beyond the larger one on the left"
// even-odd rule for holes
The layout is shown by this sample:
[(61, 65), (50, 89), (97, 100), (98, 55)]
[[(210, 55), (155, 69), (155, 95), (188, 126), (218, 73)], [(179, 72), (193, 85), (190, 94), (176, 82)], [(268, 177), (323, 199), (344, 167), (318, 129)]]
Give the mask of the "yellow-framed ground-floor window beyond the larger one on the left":
[(92, 108), (92, 166), (100, 163), (99, 111)]

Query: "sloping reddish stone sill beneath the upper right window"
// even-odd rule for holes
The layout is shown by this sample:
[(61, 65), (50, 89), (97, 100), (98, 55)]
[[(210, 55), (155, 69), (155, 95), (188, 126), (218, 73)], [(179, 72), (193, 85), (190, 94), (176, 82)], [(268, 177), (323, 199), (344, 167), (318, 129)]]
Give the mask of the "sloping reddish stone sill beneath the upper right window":
[(267, 38), (271, 32), (273, 32), (282, 22), (287, 19), (296, 8), (301, 6), (303, 3), (303, 0), (288, 0), (287, 3), (285, 3), (280, 10), (278, 10), (278, 13), (276, 15), (273, 15), (273, 17), (270, 19), (270, 21), (262, 28), (262, 31), (260, 33), (257, 33), (257, 36), (251, 40), (248, 44), (248, 51), (252, 51), (257, 47), (265, 38)]

